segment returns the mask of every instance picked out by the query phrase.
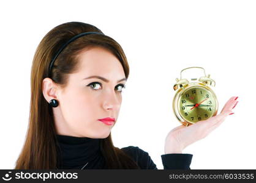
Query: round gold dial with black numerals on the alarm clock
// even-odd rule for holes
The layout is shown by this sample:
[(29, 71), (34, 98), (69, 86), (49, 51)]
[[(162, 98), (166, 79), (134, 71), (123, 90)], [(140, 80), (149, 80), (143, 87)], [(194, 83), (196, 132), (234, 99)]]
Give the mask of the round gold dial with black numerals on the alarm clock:
[(204, 87), (188, 88), (178, 102), (181, 117), (192, 123), (212, 117), (216, 109), (213, 93)]

